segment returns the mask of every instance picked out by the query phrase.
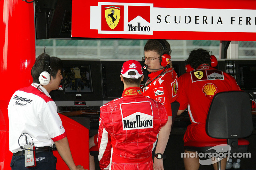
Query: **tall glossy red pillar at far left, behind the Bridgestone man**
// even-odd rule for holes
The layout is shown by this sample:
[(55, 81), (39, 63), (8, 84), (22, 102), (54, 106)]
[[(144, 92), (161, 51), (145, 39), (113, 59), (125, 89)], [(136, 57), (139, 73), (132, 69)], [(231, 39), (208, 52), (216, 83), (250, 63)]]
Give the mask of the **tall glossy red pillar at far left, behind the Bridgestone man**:
[(12, 94), (32, 83), (35, 63), (35, 22), (33, 3), (0, 1), (0, 169), (11, 169), (7, 106)]

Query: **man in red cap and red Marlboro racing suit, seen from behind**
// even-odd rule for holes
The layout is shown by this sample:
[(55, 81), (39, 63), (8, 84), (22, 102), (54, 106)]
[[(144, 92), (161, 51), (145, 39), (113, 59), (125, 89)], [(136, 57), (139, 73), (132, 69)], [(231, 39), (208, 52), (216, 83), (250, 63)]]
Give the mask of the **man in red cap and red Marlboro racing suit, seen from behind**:
[(161, 103), (142, 95), (143, 70), (138, 61), (125, 62), (120, 77), (122, 97), (100, 107), (100, 169), (153, 170), (152, 148), (167, 112)]

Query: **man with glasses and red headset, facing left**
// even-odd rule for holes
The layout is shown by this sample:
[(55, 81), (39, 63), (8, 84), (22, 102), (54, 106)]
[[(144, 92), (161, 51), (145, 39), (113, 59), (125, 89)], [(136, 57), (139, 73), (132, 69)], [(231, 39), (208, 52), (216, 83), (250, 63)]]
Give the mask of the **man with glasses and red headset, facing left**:
[(154, 158), (154, 170), (164, 170), (163, 154), (172, 126), (171, 103), (176, 100), (178, 76), (171, 67), (171, 49), (166, 40), (148, 40), (145, 47), (144, 69), (150, 74), (148, 81), (142, 86), (144, 96), (160, 102), (166, 108), (168, 121), (159, 132)]

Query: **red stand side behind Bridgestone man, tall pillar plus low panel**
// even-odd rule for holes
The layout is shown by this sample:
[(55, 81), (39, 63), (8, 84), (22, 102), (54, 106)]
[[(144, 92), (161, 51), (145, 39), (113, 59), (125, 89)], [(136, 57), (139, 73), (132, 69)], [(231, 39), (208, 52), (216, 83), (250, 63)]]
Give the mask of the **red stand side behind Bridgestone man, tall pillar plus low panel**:
[[(33, 82), (31, 68), (36, 60), (33, 3), (1, 0), (0, 18), (3, 21), (0, 24), (0, 170), (8, 170), (11, 169), (12, 158), (9, 151), (8, 103), (16, 90)], [(66, 116), (60, 117), (76, 165), (89, 169), (89, 130)], [(58, 152), (54, 155), (58, 158), (57, 169), (68, 169)]]

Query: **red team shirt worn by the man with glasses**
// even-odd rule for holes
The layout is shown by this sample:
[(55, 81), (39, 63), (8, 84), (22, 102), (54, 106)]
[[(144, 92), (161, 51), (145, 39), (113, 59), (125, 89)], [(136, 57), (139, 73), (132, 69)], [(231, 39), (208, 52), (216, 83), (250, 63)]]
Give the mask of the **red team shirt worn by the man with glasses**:
[[(151, 72), (148, 77), (149, 83), (156, 78), (163, 70)], [(162, 76), (151, 82), (147, 87), (142, 89), (144, 96), (149, 96), (151, 99), (163, 104), (168, 116), (172, 116), (171, 103), (176, 100), (178, 85), (178, 76), (173, 68), (168, 69)]]

